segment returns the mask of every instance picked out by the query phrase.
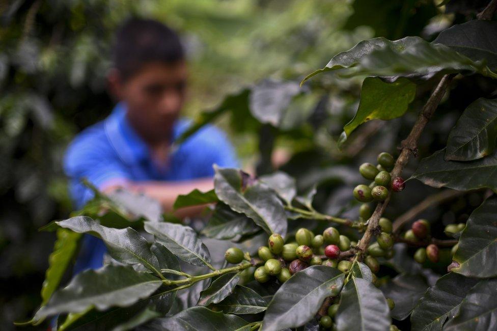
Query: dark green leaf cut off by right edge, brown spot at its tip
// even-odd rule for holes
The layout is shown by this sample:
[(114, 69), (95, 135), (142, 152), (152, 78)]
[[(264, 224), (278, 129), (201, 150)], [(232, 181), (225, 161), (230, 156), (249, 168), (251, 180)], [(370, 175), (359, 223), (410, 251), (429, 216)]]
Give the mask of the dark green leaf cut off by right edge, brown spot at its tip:
[(497, 276), (497, 198), (489, 198), (471, 213), (452, 258), (451, 271), (467, 277)]

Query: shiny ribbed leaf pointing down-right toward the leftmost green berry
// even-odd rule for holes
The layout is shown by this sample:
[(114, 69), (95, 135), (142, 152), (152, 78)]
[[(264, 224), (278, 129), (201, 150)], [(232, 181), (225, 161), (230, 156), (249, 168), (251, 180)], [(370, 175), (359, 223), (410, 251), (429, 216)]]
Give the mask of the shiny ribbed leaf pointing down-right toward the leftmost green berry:
[(207, 265), (213, 269), (207, 247), (192, 228), (167, 222), (146, 222), (145, 231), (153, 234), (156, 241), (179, 259), (197, 266)]

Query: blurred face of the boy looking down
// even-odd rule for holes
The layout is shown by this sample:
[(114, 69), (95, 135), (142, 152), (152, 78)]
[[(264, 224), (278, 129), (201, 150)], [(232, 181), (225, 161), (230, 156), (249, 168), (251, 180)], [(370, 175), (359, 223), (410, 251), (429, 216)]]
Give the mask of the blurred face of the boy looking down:
[(109, 76), (113, 92), (127, 105), (132, 126), (150, 143), (170, 139), (171, 127), (183, 106), (186, 64), (148, 63), (126, 80)]

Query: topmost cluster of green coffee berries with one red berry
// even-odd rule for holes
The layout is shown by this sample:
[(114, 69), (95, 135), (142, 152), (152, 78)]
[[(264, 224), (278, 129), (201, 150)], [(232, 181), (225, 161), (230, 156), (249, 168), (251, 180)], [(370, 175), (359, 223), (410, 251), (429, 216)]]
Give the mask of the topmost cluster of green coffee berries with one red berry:
[(375, 167), (371, 163), (363, 163), (359, 167), (361, 175), (369, 180), (371, 184), (361, 184), (354, 188), (354, 198), (361, 202), (385, 201), (389, 195), (389, 189), (399, 192), (404, 189), (404, 180), (396, 177), (392, 180), (390, 171), (394, 168), (395, 159), (392, 155), (382, 152), (377, 158), (378, 165)]

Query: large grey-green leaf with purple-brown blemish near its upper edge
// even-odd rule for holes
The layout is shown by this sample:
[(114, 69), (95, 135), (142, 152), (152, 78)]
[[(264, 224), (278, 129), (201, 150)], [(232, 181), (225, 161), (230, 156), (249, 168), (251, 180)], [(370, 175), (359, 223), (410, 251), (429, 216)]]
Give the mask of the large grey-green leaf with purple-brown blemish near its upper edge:
[(214, 189), (219, 200), (252, 218), (268, 234), (287, 233), (287, 218), (273, 190), (237, 169), (214, 166)]

